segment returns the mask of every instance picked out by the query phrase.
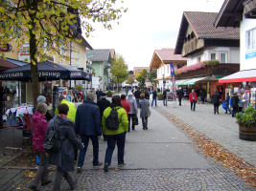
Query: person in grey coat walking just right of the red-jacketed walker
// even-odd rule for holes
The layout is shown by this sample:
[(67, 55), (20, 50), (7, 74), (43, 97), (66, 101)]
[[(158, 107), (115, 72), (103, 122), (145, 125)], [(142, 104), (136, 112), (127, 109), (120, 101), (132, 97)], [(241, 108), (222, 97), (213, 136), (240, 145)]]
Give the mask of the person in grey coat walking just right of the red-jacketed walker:
[(139, 103), (139, 108), (141, 109), (140, 117), (142, 120), (143, 129), (146, 130), (148, 129), (148, 111), (150, 107), (150, 102), (145, 98), (144, 94), (142, 94), (140, 97), (141, 97), (141, 100)]

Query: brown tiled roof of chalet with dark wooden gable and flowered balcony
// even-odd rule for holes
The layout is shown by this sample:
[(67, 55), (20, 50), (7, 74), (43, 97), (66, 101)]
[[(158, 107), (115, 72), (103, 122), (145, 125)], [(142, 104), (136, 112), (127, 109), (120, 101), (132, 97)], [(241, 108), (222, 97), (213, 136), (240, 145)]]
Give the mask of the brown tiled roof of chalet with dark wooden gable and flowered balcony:
[(197, 38), (239, 40), (239, 29), (214, 27), (217, 16), (218, 12), (184, 11), (176, 40), (175, 53), (181, 53), (189, 26), (191, 26)]

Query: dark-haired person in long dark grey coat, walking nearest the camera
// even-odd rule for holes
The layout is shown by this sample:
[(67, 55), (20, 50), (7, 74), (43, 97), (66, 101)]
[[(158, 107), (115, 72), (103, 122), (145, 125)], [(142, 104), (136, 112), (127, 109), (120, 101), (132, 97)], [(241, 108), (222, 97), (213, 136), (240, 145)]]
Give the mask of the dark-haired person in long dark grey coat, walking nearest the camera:
[(56, 153), (49, 153), (49, 161), (51, 164), (57, 166), (54, 191), (60, 191), (61, 180), (64, 177), (67, 180), (71, 190), (76, 188), (76, 183), (69, 174), (69, 171), (74, 171), (74, 147), (81, 149), (83, 145), (76, 137), (75, 124), (72, 120), (67, 118), (69, 107), (67, 104), (58, 104), (58, 115), (55, 116), (48, 125), (46, 137), (50, 130), (58, 128), (58, 138), (61, 141), (61, 149)]

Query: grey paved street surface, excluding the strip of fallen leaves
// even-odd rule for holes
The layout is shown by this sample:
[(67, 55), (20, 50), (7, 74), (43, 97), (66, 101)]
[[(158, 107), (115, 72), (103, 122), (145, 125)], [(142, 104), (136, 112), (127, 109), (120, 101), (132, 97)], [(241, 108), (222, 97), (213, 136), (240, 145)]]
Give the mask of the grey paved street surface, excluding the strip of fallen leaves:
[[(116, 150), (108, 173), (105, 173), (102, 167), (93, 168), (90, 144), (82, 172), (71, 174), (78, 180), (76, 190), (256, 190), (234, 176), (232, 171), (221, 163), (206, 158), (198, 150), (192, 138), (176, 127), (172, 121), (163, 117), (161, 112), (168, 111), (192, 125), (193, 128), (194, 125), (197, 126), (198, 131), (202, 131), (208, 138), (216, 140), (222, 146), (226, 144), (225, 148), (241, 152), (240, 148), (235, 149), (233, 146), (235, 145), (233, 142), (239, 144), (241, 141), (238, 135), (235, 135), (236, 132), (238, 133), (233, 127), (236, 125), (235, 119), (224, 114), (215, 116), (213, 112), (211, 113), (211, 104), (197, 105), (197, 111), (194, 113), (190, 111), (189, 102), (183, 103), (184, 106), (174, 108), (170, 102), (169, 106), (164, 107), (162, 102), (158, 101), (158, 107), (151, 108), (149, 130), (142, 130), (141, 121), (139, 121), (140, 124), (136, 126), (136, 130), (128, 133), (125, 156), (128, 164), (122, 169), (116, 167)], [(233, 123), (230, 124), (230, 121)], [(223, 131), (226, 135), (223, 135)], [(229, 136), (232, 138), (228, 138)], [(240, 157), (248, 160), (250, 158), (246, 158), (245, 151), (248, 155), (255, 153), (255, 144), (247, 141), (242, 143), (246, 149), (242, 150), (244, 153), (239, 153)], [(106, 143), (101, 139), (99, 156), (101, 161), (104, 160), (105, 148)], [(254, 159), (250, 159), (249, 162), (253, 163)], [(24, 173), (25, 171), (21, 168), (5, 169), (3, 166), (0, 169), (0, 191), (28, 190), (27, 186), (31, 180), (25, 178)], [(50, 179), (54, 180), (53, 171), (50, 173)], [(52, 187), (53, 183), (40, 189), (48, 191)], [(63, 191), (70, 190), (65, 180), (62, 180), (61, 188)]]

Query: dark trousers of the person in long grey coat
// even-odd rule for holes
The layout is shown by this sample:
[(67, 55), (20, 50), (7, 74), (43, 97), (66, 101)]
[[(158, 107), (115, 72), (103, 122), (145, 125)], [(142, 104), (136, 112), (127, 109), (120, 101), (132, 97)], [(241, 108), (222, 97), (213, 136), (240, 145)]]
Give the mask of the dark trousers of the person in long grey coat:
[(54, 191), (60, 191), (60, 185), (62, 179), (67, 180), (70, 188), (75, 187), (75, 182), (67, 171), (61, 170), (61, 168), (57, 167), (56, 175), (55, 175), (55, 183), (54, 183)]

